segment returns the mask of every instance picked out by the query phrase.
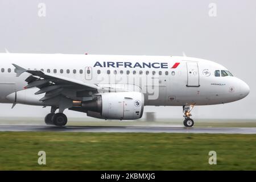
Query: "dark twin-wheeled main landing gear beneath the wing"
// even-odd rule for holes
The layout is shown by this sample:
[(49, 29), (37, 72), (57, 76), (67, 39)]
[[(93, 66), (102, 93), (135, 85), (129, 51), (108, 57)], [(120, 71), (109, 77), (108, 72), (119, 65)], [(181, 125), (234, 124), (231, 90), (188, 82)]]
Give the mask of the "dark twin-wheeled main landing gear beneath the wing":
[(55, 113), (56, 107), (52, 107), (51, 113), (47, 114), (44, 118), (46, 125), (65, 126), (68, 122), (68, 118), (63, 113)]

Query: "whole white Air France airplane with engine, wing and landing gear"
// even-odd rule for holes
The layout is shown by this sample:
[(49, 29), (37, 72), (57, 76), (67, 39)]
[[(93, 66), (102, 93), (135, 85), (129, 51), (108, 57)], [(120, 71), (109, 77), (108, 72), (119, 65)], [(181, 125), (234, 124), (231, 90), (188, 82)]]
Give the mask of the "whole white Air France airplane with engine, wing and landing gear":
[(47, 125), (66, 125), (65, 109), (122, 120), (141, 118), (144, 106), (183, 106), (184, 126), (192, 127), (193, 106), (250, 92), (227, 68), (192, 57), (0, 53), (0, 60), (0, 102), (51, 106)]

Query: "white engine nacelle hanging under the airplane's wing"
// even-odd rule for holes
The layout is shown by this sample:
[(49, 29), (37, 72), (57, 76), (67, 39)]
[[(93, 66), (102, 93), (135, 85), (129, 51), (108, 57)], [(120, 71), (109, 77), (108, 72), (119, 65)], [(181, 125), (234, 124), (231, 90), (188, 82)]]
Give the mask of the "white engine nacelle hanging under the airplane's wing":
[(144, 108), (141, 92), (102, 93), (97, 100), (82, 102), (89, 117), (101, 119), (139, 119)]

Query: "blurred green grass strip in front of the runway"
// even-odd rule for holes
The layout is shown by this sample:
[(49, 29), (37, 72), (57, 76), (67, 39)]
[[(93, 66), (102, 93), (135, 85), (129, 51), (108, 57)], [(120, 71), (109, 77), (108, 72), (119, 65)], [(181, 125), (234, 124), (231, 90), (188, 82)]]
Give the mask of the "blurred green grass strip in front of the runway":
[[(38, 151), (47, 164), (39, 166)], [(209, 165), (209, 151), (217, 165)], [(1, 170), (255, 170), (256, 135), (1, 132)]]

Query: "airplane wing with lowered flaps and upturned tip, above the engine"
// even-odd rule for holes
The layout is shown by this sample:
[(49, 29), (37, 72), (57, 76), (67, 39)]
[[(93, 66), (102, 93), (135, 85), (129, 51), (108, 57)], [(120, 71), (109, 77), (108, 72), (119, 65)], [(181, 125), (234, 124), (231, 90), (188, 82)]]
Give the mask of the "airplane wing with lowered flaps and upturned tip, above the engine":
[(31, 70), (20, 67), (13, 64), (16, 72), (16, 76), (19, 77), (22, 73), (27, 72), (31, 75), (26, 78), (28, 88), (39, 88), (35, 94), (44, 94), (44, 97), (40, 98), (45, 105), (59, 105), (64, 103), (64, 108), (72, 106), (74, 100), (92, 100), (94, 94), (101, 92), (127, 92), (127, 88), (118, 88), (117, 85), (101, 85), (90, 84), (80, 80), (63, 77), (60, 75), (45, 73), (40, 70)]

